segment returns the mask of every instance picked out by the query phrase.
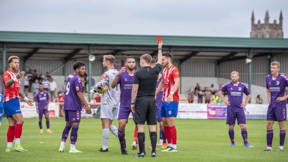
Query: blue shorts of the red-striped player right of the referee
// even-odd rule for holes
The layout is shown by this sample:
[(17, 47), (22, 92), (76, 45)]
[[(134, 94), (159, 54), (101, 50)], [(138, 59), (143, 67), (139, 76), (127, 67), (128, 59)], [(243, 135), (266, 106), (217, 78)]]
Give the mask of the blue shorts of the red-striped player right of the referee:
[(177, 117), (178, 114), (178, 102), (172, 101), (169, 104), (167, 102), (162, 101), (160, 117), (168, 118), (168, 117)]

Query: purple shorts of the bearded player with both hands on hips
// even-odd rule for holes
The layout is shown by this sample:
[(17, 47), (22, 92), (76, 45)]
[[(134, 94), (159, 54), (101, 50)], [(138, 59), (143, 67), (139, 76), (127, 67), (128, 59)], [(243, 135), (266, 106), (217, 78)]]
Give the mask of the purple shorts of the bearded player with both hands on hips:
[(235, 111), (227, 108), (226, 124), (235, 124), (236, 118), (237, 118), (237, 124), (246, 124), (246, 116), (243, 109), (238, 108)]

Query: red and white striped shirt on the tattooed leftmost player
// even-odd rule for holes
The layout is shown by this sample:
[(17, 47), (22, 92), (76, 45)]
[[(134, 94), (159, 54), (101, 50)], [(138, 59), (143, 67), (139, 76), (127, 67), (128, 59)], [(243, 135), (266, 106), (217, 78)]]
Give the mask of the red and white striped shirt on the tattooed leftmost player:
[(3, 102), (12, 100), (13, 98), (20, 98), (20, 80), (17, 79), (10, 87), (6, 87), (5, 81), (10, 81), (16, 77), (16, 73), (11, 70), (7, 70), (3, 75), (3, 83), (5, 86), (5, 96)]

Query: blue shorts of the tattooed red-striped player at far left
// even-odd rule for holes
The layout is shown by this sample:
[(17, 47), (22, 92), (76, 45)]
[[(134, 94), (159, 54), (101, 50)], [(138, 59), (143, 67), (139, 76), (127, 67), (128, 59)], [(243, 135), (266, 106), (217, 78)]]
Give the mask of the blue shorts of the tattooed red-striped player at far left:
[(3, 102), (3, 107), (7, 118), (13, 114), (21, 113), (19, 98), (13, 98), (12, 100)]

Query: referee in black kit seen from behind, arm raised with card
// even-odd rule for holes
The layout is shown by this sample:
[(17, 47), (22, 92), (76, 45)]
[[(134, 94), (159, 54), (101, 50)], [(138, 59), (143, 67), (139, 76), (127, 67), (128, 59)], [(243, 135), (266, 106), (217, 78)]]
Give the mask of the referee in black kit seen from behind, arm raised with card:
[[(134, 122), (138, 124), (138, 144), (139, 153), (134, 157), (144, 157), (143, 142), (144, 142), (144, 128), (145, 120), (151, 132), (152, 152), (151, 157), (156, 155), (156, 141), (157, 132), (155, 125), (156, 119), (156, 100), (155, 91), (157, 78), (162, 70), (162, 41), (157, 41), (158, 45), (158, 62), (154, 68), (150, 67), (152, 57), (149, 54), (144, 54), (140, 57), (141, 69), (134, 75), (134, 82), (132, 88), (131, 110), (135, 113)], [(137, 96), (137, 100), (135, 98)]]

